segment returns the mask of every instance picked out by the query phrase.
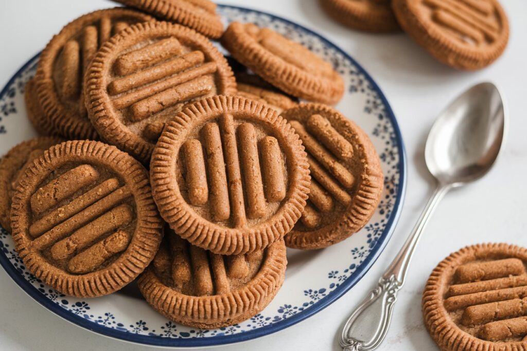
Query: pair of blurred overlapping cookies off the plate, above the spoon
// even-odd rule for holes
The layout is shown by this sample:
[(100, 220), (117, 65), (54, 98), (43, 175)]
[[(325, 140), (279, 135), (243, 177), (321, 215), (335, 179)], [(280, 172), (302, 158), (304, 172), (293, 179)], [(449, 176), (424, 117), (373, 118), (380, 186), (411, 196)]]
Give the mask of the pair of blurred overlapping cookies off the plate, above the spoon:
[(501, 56), (509, 21), (497, 0), (320, 0), (325, 11), (362, 31), (408, 33), (438, 61), (481, 69)]

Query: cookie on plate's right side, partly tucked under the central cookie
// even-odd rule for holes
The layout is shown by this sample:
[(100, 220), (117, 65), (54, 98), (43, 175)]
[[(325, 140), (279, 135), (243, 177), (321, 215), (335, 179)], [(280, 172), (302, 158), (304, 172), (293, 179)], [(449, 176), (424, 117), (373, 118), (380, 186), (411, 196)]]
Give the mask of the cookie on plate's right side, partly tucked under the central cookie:
[(379, 157), (366, 133), (329, 106), (300, 104), (282, 116), (306, 147), (311, 173), (307, 205), (286, 245), (317, 249), (338, 243), (375, 212), (384, 185)]

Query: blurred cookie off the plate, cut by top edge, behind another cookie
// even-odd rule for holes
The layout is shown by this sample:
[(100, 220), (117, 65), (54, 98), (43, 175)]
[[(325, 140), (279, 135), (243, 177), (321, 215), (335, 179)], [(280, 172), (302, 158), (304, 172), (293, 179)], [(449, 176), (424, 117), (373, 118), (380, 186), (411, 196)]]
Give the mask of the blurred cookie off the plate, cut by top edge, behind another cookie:
[(328, 15), (360, 31), (387, 33), (401, 27), (392, 11), (391, 0), (319, 0)]

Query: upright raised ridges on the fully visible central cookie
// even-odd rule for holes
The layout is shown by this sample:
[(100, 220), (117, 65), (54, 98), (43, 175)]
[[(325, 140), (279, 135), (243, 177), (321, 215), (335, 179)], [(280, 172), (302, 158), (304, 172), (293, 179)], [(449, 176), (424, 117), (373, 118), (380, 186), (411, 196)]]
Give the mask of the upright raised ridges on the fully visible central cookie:
[(201, 141), (190, 139), (181, 148), (190, 204), (207, 205), (214, 220), (231, 218), (235, 227), (245, 227), (248, 218), (266, 216), (268, 203), (285, 198), (284, 159), (275, 137), (259, 136), (250, 123), (236, 126), (231, 114), (199, 134)]

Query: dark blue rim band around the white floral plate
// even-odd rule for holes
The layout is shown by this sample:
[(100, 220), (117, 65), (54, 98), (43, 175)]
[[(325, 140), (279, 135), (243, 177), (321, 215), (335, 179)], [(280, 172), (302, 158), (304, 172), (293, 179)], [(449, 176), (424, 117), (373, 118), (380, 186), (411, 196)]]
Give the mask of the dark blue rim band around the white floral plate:
[[(122, 340), (125, 342), (131, 342), (134, 344), (140, 344), (140, 345), (149, 345), (149, 346), (158, 346), (158, 347), (159, 346), (160, 347), (203, 347), (203, 346), (218, 346), (218, 345), (228, 345), (228, 344), (245, 342), (247, 340), (266, 336), (272, 333), (276, 333), (279, 330), (286, 329), (292, 325), (295, 325), (301, 322), (304, 319), (307, 319), (317, 314), (324, 308), (328, 307), (330, 304), (334, 303), (337, 299), (339, 299), (344, 294), (346, 294), (349, 289), (355, 286), (355, 284), (357, 284), (360, 279), (364, 277), (364, 275), (368, 272), (368, 270), (372, 267), (372, 265), (375, 263), (377, 258), (383, 252), (389, 239), (392, 237), (392, 234), (395, 230), (399, 217), (401, 216), (401, 210), (403, 207), (404, 197), (406, 194), (407, 158), (406, 158), (406, 151), (405, 151), (404, 142), (403, 142), (403, 136), (401, 133), (401, 129), (399, 128), (395, 114), (392, 110), (391, 105), (388, 103), (386, 96), (384, 95), (380, 87), (377, 85), (377, 83), (374, 81), (374, 79), (369, 75), (369, 73), (363, 68), (362, 65), (360, 65), (352, 56), (346, 53), (343, 49), (341, 49), (337, 45), (330, 42), (328, 39), (326, 39), (326, 37), (318, 34), (317, 32), (309, 28), (306, 28), (305, 26), (292, 22), (289, 19), (286, 19), (284, 17), (270, 14), (265, 11), (260, 11), (258, 9), (252, 9), (252, 8), (234, 6), (234, 5), (224, 5), (224, 4), (218, 4), (218, 6), (223, 7), (223, 8), (234, 8), (241, 12), (246, 12), (246, 13), (249, 13), (249, 12), (260, 13), (260, 14), (269, 16), (271, 18), (276, 18), (279, 21), (285, 22), (288, 25), (295, 27), (296, 29), (300, 29), (301, 31), (307, 32), (311, 35), (318, 37), (320, 41), (323, 42), (325, 45), (335, 49), (336, 52), (340, 53), (345, 58), (349, 59), (349, 61), (351, 61), (355, 65), (358, 72), (363, 74), (368, 80), (368, 83), (372, 85), (373, 90), (377, 93), (379, 99), (383, 102), (386, 108), (386, 117), (389, 118), (389, 120), (392, 123), (394, 133), (395, 133), (395, 139), (397, 140), (397, 149), (399, 152), (399, 165), (398, 165), (399, 186), (397, 189), (397, 197), (394, 203), (394, 209), (392, 210), (392, 214), (389, 216), (386, 222), (385, 230), (383, 231), (383, 233), (379, 236), (377, 240), (377, 243), (379, 244), (376, 245), (372, 249), (372, 251), (370, 252), (368, 257), (364, 260), (364, 262), (360, 264), (357, 267), (357, 270), (355, 270), (355, 272), (351, 276), (349, 276), (346, 280), (344, 280), (343, 283), (341, 283), (338, 287), (336, 287), (333, 291), (331, 291), (327, 296), (321, 298), (320, 300), (318, 300), (318, 302), (311, 305), (309, 308), (306, 308), (305, 310), (298, 312), (294, 316), (288, 317), (274, 324), (270, 324), (270, 325), (267, 325), (261, 328), (257, 328), (255, 330), (249, 330), (247, 332), (243, 332), (239, 334), (212, 336), (212, 337), (206, 337), (206, 338), (188, 338), (188, 339), (187, 338), (182, 339), (182, 338), (170, 338), (170, 337), (162, 337), (162, 336), (148, 336), (148, 335), (133, 334), (130, 332), (108, 328), (108, 327), (96, 324), (90, 320), (84, 319), (82, 316), (73, 314), (69, 312), (68, 310), (58, 306), (52, 300), (43, 296), (42, 293), (39, 292), (36, 287), (34, 287), (31, 283), (29, 283), (26, 279), (24, 279), (24, 277), (21, 274), (19, 274), (16, 268), (11, 264), (11, 262), (9, 262), (5, 253), (1, 252), (0, 265), (2, 265), (7, 275), (11, 277), (11, 279), (13, 279), (13, 281), (27, 295), (29, 295), (33, 300), (35, 300), (35, 302), (45, 307), (47, 310), (57, 315), (58, 317), (61, 317), (62, 319), (67, 320), (67, 322), (70, 322), (83, 329), (87, 329), (93, 333), (96, 333), (102, 336), (111, 337), (114, 339)], [(28, 66), (33, 64), (35, 59), (38, 56), (40, 56), (40, 54), (41, 52), (38, 52), (32, 58), (30, 58), (7, 81), (6, 85), (2, 88), (2, 91), (0, 91), (0, 98), (3, 97), (7, 93), (9, 86), (11, 86), (14, 83), (15, 79)]]

